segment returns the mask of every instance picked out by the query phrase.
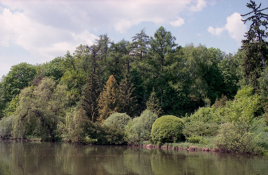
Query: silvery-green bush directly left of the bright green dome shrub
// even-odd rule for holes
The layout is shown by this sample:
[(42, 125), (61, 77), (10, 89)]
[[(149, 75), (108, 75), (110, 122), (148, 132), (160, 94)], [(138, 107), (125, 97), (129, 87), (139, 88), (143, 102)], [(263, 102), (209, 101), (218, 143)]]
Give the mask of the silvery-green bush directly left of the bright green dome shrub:
[(145, 110), (140, 117), (129, 122), (126, 129), (126, 140), (130, 144), (137, 144), (144, 140), (149, 140), (152, 124), (157, 119), (157, 115), (150, 110)]

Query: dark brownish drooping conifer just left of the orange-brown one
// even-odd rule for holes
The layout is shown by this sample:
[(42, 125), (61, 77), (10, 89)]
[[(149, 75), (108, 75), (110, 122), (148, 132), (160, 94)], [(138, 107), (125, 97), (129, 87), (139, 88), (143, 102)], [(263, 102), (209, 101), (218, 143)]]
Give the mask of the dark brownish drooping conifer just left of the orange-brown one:
[(82, 100), (80, 107), (82, 107), (89, 120), (95, 122), (98, 118), (98, 101), (100, 94), (100, 83), (98, 77), (91, 73), (87, 79), (87, 85), (82, 92)]

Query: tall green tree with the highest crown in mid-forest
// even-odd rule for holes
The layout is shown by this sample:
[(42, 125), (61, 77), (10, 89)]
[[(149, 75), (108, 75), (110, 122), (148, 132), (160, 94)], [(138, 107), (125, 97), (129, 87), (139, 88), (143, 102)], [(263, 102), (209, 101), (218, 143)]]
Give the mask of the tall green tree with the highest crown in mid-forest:
[[(147, 75), (144, 78), (144, 85), (147, 93), (151, 92), (152, 87), (157, 87), (155, 93), (160, 100), (160, 106), (167, 114), (177, 115), (179, 99), (177, 93), (169, 85), (169, 79), (174, 76), (171, 74), (170, 67), (177, 60), (175, 48), (176, 38), (171, 32), (166, 31), (162, 26), (156, 30), (154, 38), (150, 38), (149, 57), (147, 63)], [(149, 96), (149, 94), (147, 94)], [(175, 107), (171, 107), (174, 104)]]

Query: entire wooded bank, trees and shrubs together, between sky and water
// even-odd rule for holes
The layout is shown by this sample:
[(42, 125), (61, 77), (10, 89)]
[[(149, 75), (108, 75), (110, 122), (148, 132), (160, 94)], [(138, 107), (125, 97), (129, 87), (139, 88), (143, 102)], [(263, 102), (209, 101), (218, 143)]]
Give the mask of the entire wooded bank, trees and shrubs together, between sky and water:
[(267, 153), (268, 15), (247, 7), (250, 29), (234, 54), (178, 46), (161, 26), (13, 65), (0, 82), (0, 138)]

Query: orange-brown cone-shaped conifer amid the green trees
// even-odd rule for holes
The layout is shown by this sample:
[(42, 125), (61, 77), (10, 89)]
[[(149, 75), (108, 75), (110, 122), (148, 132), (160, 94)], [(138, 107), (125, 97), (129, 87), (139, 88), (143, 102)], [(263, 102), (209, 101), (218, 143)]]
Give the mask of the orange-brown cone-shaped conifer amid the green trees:
[(106, 85), (103, 87), (103, 91), (99, 96), (99, 118), (97, 121), (103, 123), (103, 121), (110, 116), (113, 112), (121, 112), (122, 105), (120, 100), (119, 86), (116, 83), (116, 79), (113, 75), (107, 80)]

